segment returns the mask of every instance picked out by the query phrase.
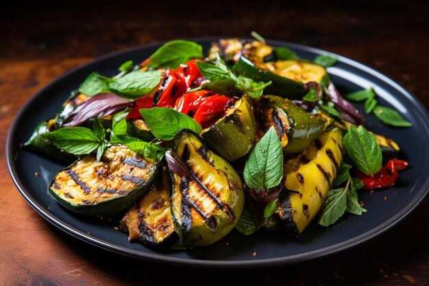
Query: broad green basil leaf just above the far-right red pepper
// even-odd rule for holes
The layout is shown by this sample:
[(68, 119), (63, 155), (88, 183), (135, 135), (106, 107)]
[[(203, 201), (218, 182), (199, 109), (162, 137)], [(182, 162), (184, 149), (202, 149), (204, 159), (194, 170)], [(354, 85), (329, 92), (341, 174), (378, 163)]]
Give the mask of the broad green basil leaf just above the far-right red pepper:
[(363, 173), (373, 176), (382, 167), (382, 153), (376, 138), (363, 126), (350, 126), (343, 138), (347, 155)]

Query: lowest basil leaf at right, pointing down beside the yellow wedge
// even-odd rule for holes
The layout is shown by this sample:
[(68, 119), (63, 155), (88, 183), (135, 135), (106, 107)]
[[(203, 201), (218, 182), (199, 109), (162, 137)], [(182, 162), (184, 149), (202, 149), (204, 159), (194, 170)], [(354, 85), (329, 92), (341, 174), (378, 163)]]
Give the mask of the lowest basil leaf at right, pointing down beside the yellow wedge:
[(341, 189), (332, 189), (328, 192), (325, 207), (319, 219), (321, 226), (334, 224), (345, 212), (347, 206), (347, 186)]

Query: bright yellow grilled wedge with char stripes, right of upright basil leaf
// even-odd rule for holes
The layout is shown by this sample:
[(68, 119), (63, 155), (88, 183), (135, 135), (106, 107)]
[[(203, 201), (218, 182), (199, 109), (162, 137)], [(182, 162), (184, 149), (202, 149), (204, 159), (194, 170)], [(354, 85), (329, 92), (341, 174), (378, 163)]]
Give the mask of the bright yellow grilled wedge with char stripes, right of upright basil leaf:
[(299, 235), (317, 215), (343, 160), (341, 131), (320, 134), (299, 156), (284, 163), (284, 187), (295, 192), (280, 197), (278, 215)]

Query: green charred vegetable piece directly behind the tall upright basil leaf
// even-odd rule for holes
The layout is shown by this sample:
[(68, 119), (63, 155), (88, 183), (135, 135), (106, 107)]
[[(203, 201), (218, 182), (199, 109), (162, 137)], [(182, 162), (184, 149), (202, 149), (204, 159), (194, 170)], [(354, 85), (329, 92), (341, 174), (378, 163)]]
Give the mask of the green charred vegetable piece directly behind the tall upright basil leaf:
[(310, 115), (289, 99), (275, 95), (263, 96), (258, 102), (257, 112), (264, 131), (274, 127), (285, 154), (306, 150), (325, 128), (323, 120)]

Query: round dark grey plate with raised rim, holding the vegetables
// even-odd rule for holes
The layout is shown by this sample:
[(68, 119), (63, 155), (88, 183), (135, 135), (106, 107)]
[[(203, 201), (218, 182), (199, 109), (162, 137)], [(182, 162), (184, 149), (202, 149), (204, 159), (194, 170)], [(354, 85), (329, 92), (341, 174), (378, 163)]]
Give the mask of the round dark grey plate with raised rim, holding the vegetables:
[[(196, 40), (206, 50), (216, 38)], [(269, 43), (290, 47), (302, 58), (313, 59), (319, 54), (328, 53), (280, 41), (270, 40)], [(66, 233), (106, 250), (149, 261), (215, 267), (279, 265), (323, 257), (380, 235), (404, 219), (428, 193), (429, 120), (426, 109), (393, 80), (354, 60), (338, 56), (339, 63), (329, 68), (328, 72), (340, 91), (356, 91), (372, 86), (380, 104), (395, 108), (414, 125), (413, 128), (390, 128), (382, 125), (373, 115), (367, 116), (367, 128), (395, 139), (412, 167), (402, 171), (400, 180), (391, 189), (375, 193), (361, 191), (360, 198), (368, 210), (364, 215), (345, 215), (329, 228), (312, 224), (298, 239), (285, 233), (266, 231), (245, 237), (234, 230), (215, 245), (184, 251), (129, 243), (127, 235), (114, 230), (112, 224), (85, 219), (66, 211), (47, 191), (49, 182), (64, 165), (20, 150), (19, 144), (29, 138), (36, 123), (55, 115), (70, 91), (79, 86), (90, 72), (114, 74), (125, 60), (140, 62), (159, 46), (145, 45), (112, 53), (62, 75), (36, 93), (12, 123), (6, 147), (12, 179), (34, 210)], [(362, 109), (362, 106), (358, 107)], [(34, 176), (36, 171), (40, 174), (38, 178)], [(253, 256), (254, 251), (258, 253), (256, 257)]]

